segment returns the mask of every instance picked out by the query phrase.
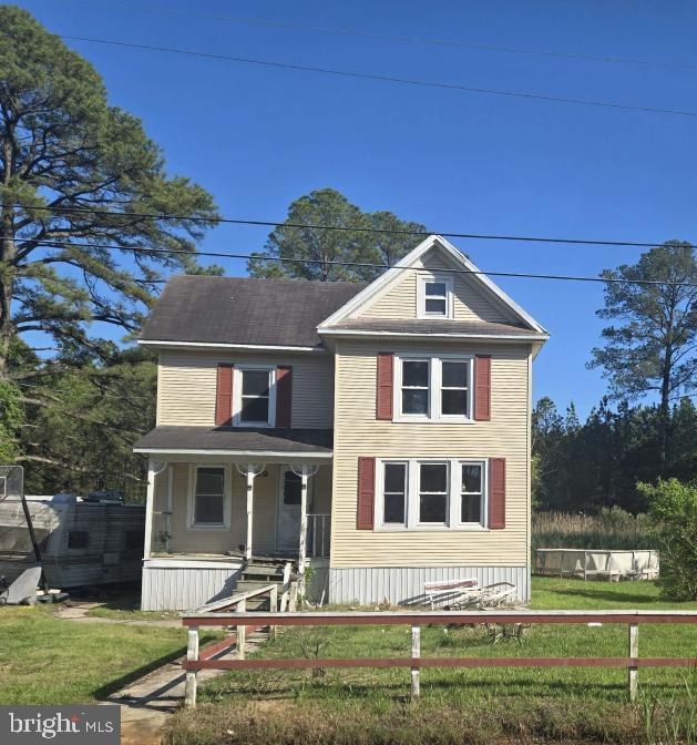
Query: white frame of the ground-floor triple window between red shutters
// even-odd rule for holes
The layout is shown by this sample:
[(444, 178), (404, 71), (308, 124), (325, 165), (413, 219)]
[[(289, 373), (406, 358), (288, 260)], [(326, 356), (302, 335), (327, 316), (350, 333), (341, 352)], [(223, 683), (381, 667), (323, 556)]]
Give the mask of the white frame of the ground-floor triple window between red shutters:
[[(404, 523), (385, 523), (385, 465), (407, 465), (407, 514)], [(448, 465), (447, 520), (441, 522), (419, 522), (420, 467), (422, 463)], [(482, 468), (482, 520), (461, 522), (462, 466)], [(379, 532), (489, 532), (489, 458), (377, 458), (375, 525)]]

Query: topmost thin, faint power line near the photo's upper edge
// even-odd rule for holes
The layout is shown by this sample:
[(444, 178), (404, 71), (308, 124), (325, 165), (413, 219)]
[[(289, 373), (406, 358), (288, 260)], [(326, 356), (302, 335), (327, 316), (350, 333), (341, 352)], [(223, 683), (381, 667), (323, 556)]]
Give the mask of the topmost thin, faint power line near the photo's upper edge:
[(321, 25), (305, 25), (301, 23), (290, 23), (284, 21), (268, 21), (264, 19), (256, 18), (242, 18), (242, 17), (230, 17), (230, 16), (217, 16), (214, 13), (199, 13), (188, 10), (178, 10), (175, 8), (165, 8), (165, 7), (155, 7), (155, 8), (143, 8), (140, 6), (114, 3), (114, 2), (101, 2), (100, 3), (106, 8), (113, 8), (116, 10), (131, 10), (140, 13), (153, 13), (156, 16), (177, 16), (180, 18), (201, 18), (217, 22), (224, 23), (238, 23), (245, 25), (260, 25), (271, 29), (288, 29), (291, 31), (309, 31), (311, 33), (324, 33), (324, 34), (335, 34), (344, 37), (362, 37), (367, 39), (379, 39), (381, 41), (398, 41), (406, 43), (416, 43), (416, 44), (429, 44), (434, 47), (450, 47), (458, 49), (472, 49), (484, 52), (503, 52), (506, 54), (527, 54), (527, 55), (540, 55), (540, 57), (552, 57), (567, 60), (584, 60), (590, 62), (605, 62), (613, 64), (638, 64), (643, 67), (654, 67), (654, 68), (674, 68), (683, 70), (697, 70), (697, 64), (690, 62), (669, 62), (667, 60), (643, 60), (636, 58), (626, 58), (626, 57), (611, 57), (611, 55), (598, 55), (598, 54), (581, 54), (573, 52), (557, 52), (553, 50), (544, 49), (530, 49), (524, 47), (502, 47), (498, 44), (474, 44), (467, 41), (458, 41), (451, 39), (438, 39), (433, 37), (411, 37), (411, 35), (401, 35), (392, 33), (381, 33), (379, 31), (370, 31), (366, 29), (339, 29)]

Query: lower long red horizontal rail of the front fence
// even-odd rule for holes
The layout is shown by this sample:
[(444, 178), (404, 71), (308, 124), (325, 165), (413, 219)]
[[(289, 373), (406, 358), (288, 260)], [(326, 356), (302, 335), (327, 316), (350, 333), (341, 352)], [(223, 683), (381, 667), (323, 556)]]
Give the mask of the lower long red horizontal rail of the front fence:
[(296, 670), (312, 667), (696, 667), (697, 657), (357, 657), (331, 660), (185, 661), (184, 670)]

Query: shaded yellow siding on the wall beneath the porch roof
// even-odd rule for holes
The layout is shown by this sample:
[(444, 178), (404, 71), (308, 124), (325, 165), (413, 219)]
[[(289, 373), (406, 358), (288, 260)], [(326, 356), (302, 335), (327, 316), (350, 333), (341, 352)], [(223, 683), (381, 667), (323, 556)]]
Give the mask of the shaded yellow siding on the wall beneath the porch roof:
[[(188, 528), (189, 463), (173, 463), (173, 553), (225, 553), (237, 551), (247, 535), (246, 481), (232, 467), (232, 521), (229, 529)], [(253, 551), (256, 554), (274, 553), (276, 549), (276, 506), (278, 478), (281, 466), (267, 466), (267, 476), (254, 480)], [(331, 469), (320, 467), (310, 479), (309, 498), (316, 512), (330, 512)], [(160, 501), (160, 500), (158, 500)], [(157, 508), (156, 508), (157, 509)], [(162, 548), (156, 550), (162, 551)]]

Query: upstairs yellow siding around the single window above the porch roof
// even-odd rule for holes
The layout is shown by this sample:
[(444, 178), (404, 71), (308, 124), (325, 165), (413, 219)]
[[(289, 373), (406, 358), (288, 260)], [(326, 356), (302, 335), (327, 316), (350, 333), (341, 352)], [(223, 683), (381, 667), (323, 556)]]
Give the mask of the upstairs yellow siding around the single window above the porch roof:
[(334, 426), (334, 358), (315, 353), (269, 356), (258, 354), (160, 353), (157, 423), (215, 423), (215, 386), (218, 363), (293, 366), (293, 427)]

